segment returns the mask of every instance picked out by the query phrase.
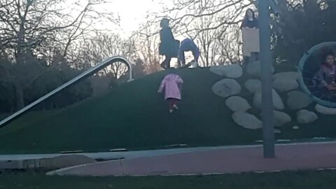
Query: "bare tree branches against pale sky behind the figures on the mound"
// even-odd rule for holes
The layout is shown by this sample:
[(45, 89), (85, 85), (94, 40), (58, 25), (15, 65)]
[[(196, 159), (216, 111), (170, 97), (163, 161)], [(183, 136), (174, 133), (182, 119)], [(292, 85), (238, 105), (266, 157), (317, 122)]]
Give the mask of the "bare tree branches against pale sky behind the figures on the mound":
[(254, 3), (252, 0), (174, 0), (148, 16), (146, 25), (139, 29), (146, 36), (141, 43), (145, 38), (152, 41), (158, 38), (156, 26), (162, 18), (169, 18), (175, 36), (192, 38), (197, 43), (202, 66), (237, 62), (241, 56), (239, 25), (246, 8)]

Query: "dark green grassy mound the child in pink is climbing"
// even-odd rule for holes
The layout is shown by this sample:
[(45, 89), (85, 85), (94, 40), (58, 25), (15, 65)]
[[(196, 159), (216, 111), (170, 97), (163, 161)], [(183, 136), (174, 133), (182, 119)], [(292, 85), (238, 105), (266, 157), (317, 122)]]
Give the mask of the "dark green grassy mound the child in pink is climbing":
[[(165, 72), (155, 73), (66, 109), (19, 118), (0, 130), (0, 153), (138, 150), (169, 144), (221, 146), (254, 144), (262, 139), (261, 130), (237, 126), (225, 99), (211, 91), (223, 77), (209, 69), (179, 69), (179, 73), (185, 81), (183, 100), (172, 115), (162, 94), (157, 93)], [(246, 79), (239, 78), (239, 82)], [(246, 90), (241, 95), (252, 99)], [(260, 111), (251, 112), (260, 117)], [(295, 112), (290, 115), (295, 120)], [(277, 138), (336, 137), (335, 116), (319, 116), (316, 123), (300, 125), (300, 130), (291, 129), (295, 122), (285, 125)]]

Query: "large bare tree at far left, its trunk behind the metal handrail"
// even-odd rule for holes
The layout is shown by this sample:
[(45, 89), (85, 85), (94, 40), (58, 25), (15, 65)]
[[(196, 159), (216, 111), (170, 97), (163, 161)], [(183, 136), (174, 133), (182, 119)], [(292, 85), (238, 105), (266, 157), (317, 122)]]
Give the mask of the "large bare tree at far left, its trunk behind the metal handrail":
[[(72, 43), (91, 32), (92, 21), (87, 18), (102, 16), (94, 7), (104, 0), (81, 0), (69, 3), (65, 0), (3, 0), (0, 1), (0, 49), (2, 55), (15, 62), (10, 74), (15, 83), (17, 109), (25, 104), (23, 90), (58, 65), (54, 57), (66, 58)], [(60, 53), (62, 52), (62, 53)], [(55, 55), (54, 55), (55, 54)], [(47, 62), (44, 66), (41, 61)], [(43, 61), (43, 62), (45, 62)], [(31, 69), (34, 64), (35, 69)], [(41, 69), (36, 69), (39, 66)], [(40, 71), (36, 73), (36, 71)]]

